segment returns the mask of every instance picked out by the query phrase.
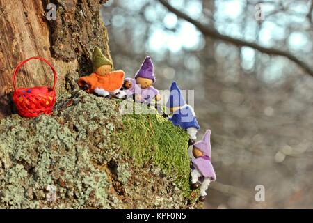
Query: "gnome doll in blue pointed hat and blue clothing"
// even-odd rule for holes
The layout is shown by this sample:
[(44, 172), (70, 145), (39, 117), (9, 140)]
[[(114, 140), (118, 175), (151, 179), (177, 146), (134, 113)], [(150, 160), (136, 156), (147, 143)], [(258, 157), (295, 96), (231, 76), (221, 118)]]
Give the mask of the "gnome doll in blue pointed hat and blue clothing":
[(194, 144), (200, 126), (195, 116), (195, 112), (193, 111), (193, 107), (186, 104), (176, 82), (172, 82), (172, 85), (170, 86), (170, 98), (168, 98), (168, 102), (166, 102), (166, 107), (168, 107), (170, 112), (173, 113), (168, 120), (171, 121), (173, 125), (177, 125), (182, 129), (187, 130), (190, 136), (189, 144)]

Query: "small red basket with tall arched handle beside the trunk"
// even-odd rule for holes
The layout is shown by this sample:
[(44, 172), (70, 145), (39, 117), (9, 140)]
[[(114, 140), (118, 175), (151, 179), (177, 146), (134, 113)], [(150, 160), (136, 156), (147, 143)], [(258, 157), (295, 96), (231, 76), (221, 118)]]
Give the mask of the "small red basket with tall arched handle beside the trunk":
[[(45, 86), (36, 86), (33, 88), (16, 88), (15, 84), (15, 77), (19, 68), (21, 68), (24, 63), (32, 59), (38, 59), (40, 61), (44, 61), (47, 63), (52, 72), (54, 73), (54, 86), (45, 87)], [(19, 65), (15, 68), (13, 72), (13, 87), (14, 87), (14, 94), (13, 94), (13, 102), (17, 107), (17, 111), (19, 112), (20, 116), (23, 117), (36, 117), (40, 114), (51, 114), (52, 109), (54, 108), (54, 104), (56, 103), (56, 70), (54, 67), (49, 63), (47, 60), (42, 59), (40, 57), (31, 57), (19, 63)]]

